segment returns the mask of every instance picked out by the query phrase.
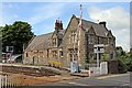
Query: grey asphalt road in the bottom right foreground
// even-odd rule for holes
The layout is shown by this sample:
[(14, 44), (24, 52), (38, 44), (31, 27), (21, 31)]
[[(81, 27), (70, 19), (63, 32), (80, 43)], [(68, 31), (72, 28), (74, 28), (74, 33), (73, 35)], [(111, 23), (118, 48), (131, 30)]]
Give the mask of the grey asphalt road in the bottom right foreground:
[(45, 84), (43, 86), (130, 86), (130, 74), (84, 77), (79, 79)]

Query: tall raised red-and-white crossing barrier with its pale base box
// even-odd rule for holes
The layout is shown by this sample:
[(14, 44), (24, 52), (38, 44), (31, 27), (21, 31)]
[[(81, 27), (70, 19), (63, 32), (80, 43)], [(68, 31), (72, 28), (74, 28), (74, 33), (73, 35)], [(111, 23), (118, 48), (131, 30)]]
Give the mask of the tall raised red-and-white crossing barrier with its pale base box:
[[(74, 47), (73, 47), (73, 58), (72, 58), (72, 67), (70, 72), (79, 72), (79, 61), (80, 61), (80, 31), (81, 31), (81, 16), (82, 16), (82, 10), (81, 10), (81, 4), (80, 4), (80, 16), (79, 16), (79, 24), (77, 26), (77, 30), (73, 32), (74, 36)], [(78, 57), (75, 61), (75, 52), (76, 52), (76, 44), (77, 44), (77, 55)]]

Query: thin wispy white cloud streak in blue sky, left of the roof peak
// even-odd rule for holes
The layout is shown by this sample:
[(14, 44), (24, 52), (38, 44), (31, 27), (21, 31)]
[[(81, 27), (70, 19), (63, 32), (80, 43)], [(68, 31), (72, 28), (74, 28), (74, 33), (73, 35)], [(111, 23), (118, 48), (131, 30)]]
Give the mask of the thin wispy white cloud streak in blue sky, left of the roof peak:
[[(54, 7), (55, 6), (55, 7)], [(50, 3), (43, 7), (37, 7), (34, 9), (35, 14), (32, 15), (28, 22), (31, 24), (37, 24), (51, 18), (55, 18), (62, 14), (62, 10), (65, 4)], [(54, 7), (54, 8), (53, 8)]]

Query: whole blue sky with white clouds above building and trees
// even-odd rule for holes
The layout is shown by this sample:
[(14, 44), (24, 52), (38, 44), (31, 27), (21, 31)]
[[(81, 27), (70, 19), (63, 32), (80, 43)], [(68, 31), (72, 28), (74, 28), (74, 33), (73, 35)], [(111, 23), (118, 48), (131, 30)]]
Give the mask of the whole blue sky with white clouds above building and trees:
[(54, 31), (55, 20), (62, 20), (66, 29), (73, 14), (79, 16), (80, 4), (82, 19), (96, 23), (106, 21), (117, 46), (130, 50), (129, 2), (1, 2), (0, 25), (24, 21), (32, 25), (35, 35), (50, 33)]

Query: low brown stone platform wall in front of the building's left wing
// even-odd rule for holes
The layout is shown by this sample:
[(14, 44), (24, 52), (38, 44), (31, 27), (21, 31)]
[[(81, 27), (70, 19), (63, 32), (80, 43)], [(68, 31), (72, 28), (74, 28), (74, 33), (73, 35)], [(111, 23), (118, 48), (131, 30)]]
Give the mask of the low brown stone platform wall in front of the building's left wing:
[(0, 65), (3, 73), (24, 74), (30, 76), (54, 76), (59, 72), (46, 67), (18, 66), (18, 65)]

